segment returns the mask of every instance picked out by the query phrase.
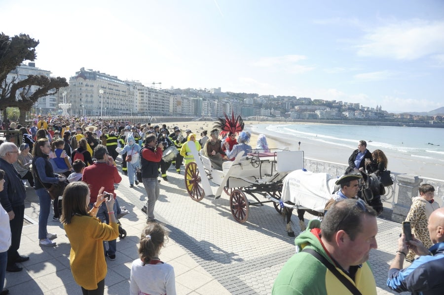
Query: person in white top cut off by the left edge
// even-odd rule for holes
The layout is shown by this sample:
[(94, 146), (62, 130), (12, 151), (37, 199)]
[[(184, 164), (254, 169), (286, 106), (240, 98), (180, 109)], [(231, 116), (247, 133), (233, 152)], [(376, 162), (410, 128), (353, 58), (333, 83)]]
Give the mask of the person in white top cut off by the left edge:
[[(4, 171), (0, 170), (0, 192), (4, 188)], [(9, 293), (3, 289), (6, 276), (6, 265), (8, 262), (8, 249), (11, 246), (11, 227), (9, 226), (9, 215), (0, 204), (0, 295)]]

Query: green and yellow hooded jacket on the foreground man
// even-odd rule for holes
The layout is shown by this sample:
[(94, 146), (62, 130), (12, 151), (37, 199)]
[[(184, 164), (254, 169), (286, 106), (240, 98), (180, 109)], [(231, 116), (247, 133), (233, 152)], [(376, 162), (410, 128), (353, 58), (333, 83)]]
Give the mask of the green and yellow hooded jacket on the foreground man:
[[(329, 262), (335, 265), (335, 262), (327, 254), (321, 243), (319, 236), (320, 229), (307, 229), (299, 234), (295, 243), (299, 249), (312, 249)], [(353, 267), (353, 266), (352, 266)], [(336, 269), (349, 279), (362, 295), (375, 295), (376, 282), (368, 262), (357, 267), (354, 282), (343, 272), (340, 267)], [(300, 252), (293, 255), (282, 267), (273, 285), (273, 295), (348, 295), (350, 291), (345, 287), (339, 279), (318, 259), (313, 255)]]

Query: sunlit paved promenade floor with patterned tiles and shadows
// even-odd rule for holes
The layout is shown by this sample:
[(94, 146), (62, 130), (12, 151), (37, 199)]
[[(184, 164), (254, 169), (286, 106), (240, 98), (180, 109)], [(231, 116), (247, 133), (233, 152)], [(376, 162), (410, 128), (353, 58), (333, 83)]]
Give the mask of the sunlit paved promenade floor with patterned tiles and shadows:
[[(170, 231), (160, 259), (174, 266), (177, 294), (271, 294), (278, 272), (295, 253), (294, 238), (287, 236), (285, 222), (273, 205), (250, 206), (247, 222), (240, 224), (231, 216), (227, 195), (222, 194), (219, 199), (205, 197), (196, 202), (186, 193), (184, 171), (177, 174), (170, 168), (167, 174), (168, 181), (160, 183), (155, 218)], [(130, 188), (128, 177), (122, 175), (122, 178), (117, 195), (120, 206), (125, 206), (130, 214), (120, 219), (127, 236), (117, 239), (115, 261), (107, 259), (105, 294), (109, 295), (129, 294), (131, 263), (138, 258), (140, 232), (146, 224), (146, 215), (141, 211), (146, 202), (143, 185)], [(217, 187), (213, 185), (212, 189), (216, 192)], [(26, 191), (26, 221), (19, 253), (29, 255), (30, 260), (19, 263), (23, 271), (6, 274), (5, 288), (12, 295), (80, 295), (80, 287), (70, 270), (70, 244), (63, 226), (52, 221), (50, 214), (48, 231), (57, 233), (54, 240), (57, 246), (40, 247), (38, 198), (33, 188), (28, 187)], [(307, 214), (306, 222), (310, 218)], [(298, 232), (297, 217), (293, 216), (292, 221)], [(395, 294), (387, 289), (385, 282), (402, 228), (380, 218), (378, 228), (378, 249), (370, 252), (377, 291), (380, 295)]]

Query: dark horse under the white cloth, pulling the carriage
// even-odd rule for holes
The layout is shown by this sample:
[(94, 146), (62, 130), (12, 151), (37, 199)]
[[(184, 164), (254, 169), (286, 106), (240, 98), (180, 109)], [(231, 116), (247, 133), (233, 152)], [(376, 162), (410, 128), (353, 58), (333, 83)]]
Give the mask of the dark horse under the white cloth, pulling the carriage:
[[(375, 174), (367, 174), (364, 172), (361, 172), (363, 175), (363, 178), (358, 180), (359, 184), (359, 191), (357, 197), (363, 199), (369, 206), (371, 206), (377, 213), (377, 215), (382, 214), (382, 210), (384, 209), (381, 201), (381, 195), (385, 194), (385, 189), (382, 183), (379, 181), (379, 178)], [(332, 195), (335, 194), (340, 189), (339, 185), (336, 185), (334, 187), (334, 190), (332, 192)], [(286, 201), (287, 204), (295, 205), (295, 203), (291, 201)], [(299, 219), (299, 227), (301, 232), (306, 229), (305, 227), (305, 221), (304, 221), (304, 214), (305, 212), (308, 212), (318, 218), (324, 217), (324, 212), (319, 212), (316, 210), (304, 208), (304, 209), (296, 209), (297, 211), (297, 218)], [(284, 219), (287, 219), (287, 234), (291, 237), (295, 236), (295, 232), (293, 231), (291, 227), (291, 217), (293, 214), (293, 209), (289, 207), (283, 207), (283, 210), (281, 211), (281, 214)]]

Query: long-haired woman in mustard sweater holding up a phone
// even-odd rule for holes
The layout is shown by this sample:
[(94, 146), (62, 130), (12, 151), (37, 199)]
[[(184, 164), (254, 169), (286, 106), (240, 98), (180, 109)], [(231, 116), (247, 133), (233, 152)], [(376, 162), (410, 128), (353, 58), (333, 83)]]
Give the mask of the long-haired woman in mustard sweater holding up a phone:
[[(108, 199), (99, 191), (97, 202), (88, 211), (90, 191), (82, 181), (72, 182), (63, 193), (62, 220), (71, 244), (70, 265), (75, 282), (82, 288), (83, 294), (104, 294), (107, 262), (103, 241), (117, 238), (119, 228), (112, 206), (114, 198)], [(110, 224), (96, 218), (100, 205), (105, 202), (108, 208)]]

